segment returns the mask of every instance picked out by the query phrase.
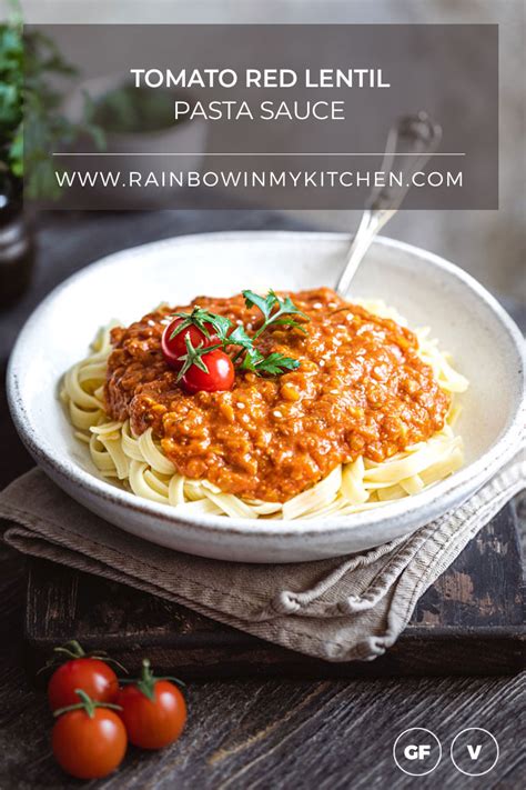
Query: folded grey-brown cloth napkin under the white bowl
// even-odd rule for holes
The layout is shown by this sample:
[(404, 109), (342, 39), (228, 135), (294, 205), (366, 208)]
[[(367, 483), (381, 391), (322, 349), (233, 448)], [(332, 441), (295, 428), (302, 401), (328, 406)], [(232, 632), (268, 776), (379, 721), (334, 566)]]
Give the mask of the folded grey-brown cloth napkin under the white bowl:
[(409, 538), (358, 556), (282, 566), (206, 560), (134, 538), (38, 469), (0, 494), (0, 517), (7, 543), (27, 554), (176, 601), (308, 656), (370, 660), (394, 644), (422, 593), (525, 487), (523, 451), (461, 508)]

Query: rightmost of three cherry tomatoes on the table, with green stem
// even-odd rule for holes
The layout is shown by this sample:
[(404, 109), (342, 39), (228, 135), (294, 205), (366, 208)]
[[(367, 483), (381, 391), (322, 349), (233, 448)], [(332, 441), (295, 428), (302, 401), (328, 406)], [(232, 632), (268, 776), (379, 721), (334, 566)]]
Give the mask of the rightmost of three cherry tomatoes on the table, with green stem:
[(121, 689), (117, 698), (120, 717), (128, 737), (141, 749), (162, 749), (183, 731), (186, 702), (170, 680), (155, 679), (150, 663), (143, 662), (143, 676), (138, 683)]

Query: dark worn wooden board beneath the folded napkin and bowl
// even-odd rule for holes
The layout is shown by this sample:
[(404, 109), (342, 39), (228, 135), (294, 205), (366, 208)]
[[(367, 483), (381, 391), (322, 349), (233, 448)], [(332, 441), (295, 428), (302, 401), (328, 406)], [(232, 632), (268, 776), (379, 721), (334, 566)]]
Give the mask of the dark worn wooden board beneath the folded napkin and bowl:
[(185, 678), (498, 674), (524, 667), (522, 569), (512, 507), (472, 541), (423, 596), (386, 656), (332, 664), (201, 617), (183, 607), (44, 561), (31, 561), (28, 666), (78, 639), (136, 670), (148, 651)]

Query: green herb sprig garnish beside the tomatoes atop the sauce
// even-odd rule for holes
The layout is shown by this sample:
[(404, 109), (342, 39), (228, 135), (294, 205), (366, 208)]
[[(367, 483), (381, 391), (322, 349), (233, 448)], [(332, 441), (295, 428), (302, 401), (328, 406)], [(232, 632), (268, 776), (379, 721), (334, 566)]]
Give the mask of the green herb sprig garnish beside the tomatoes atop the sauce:
[(260, 297), (253, 291), (245, 290), (243, 291), (243, 297), (246, 307), (257, 308), (264, 319), (261, 327), (252, 336), (246, 332), (243, 326), (232, 329), (233, 324), (230, 319), (224, 316), (218, 316), (199, 306), (194, 307), (191, 313), (174, 313), (174, 317), (183, 320), (175, 327), (170, 339), (173, 339), (176, 334), (193, 326), (196, 327), (206, 339), (211, 338), (211, 330), (213, 330), (214, 336), (216, 336), (219, 340), (219, 342), (212, 342), (209, 346), (203, 342), (194, 347), (190, 337), (186, 334), (184, 338), (186, 353), (180, 357), (183, 366), (179, 372), (178, 381), (182, 379), (192, 364), (208, 372), (203, 357), (218, 348), (224, 350), (227, 346), (239, 346), (239, 350), (232, 359), (234, 364), (239, 364), (240, 370), (247, 370), (257, 376), (280, 376), (286, 370), (295, 370), (300, 367), (297, 359), (285, 357), (277, 351), (273, 351), (265, 357), (265, 354), (254, 346), (254, 341), (270, 327), (291, 327), (306, 334), (306, 329), (296, 318), (292, 317), (294, 316), (304, 321), (310, 321), (308, 316), (299, 310), (290, 297), (280, 299), (273, 290), (270, 290), (266, 297)]

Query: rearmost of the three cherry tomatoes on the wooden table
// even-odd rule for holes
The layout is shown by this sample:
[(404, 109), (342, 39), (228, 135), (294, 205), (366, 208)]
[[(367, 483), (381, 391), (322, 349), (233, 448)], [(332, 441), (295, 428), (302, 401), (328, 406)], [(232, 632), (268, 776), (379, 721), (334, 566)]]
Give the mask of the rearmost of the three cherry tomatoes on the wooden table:
[(69, 657), (55, 669), (48, 683), (48, 699), (51, 710), (77, 704), (77, 690), (81, 689), (97, 702), (114, 702), (119, 692), (119, 680), (102, 656), (88, 656), (79, 642), (72, 640), (55, 653)]

